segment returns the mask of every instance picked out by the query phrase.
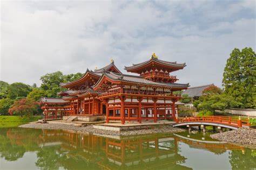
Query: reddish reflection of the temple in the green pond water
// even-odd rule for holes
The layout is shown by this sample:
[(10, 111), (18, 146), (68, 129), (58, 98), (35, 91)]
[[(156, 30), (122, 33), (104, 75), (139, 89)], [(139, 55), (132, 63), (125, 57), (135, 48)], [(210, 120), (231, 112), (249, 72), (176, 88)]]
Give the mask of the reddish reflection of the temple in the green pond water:
[(178, 154), (176, 138), (164, 135), (116, 140), (92, 134), (44, 130), (40, 138), (41, 146), (60, 144), (67, 157), (77, 162), (82, 159), (103, 169), (190, 169), (180, 165), (185, 158)]

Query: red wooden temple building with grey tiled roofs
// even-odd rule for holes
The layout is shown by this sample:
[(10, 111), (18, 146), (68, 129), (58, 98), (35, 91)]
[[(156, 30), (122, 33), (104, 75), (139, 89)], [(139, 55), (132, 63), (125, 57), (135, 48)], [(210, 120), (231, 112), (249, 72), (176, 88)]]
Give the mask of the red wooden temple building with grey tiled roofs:
[(159, 60), (156, 54), (145, 62), (133, 64), (123, 74), (114, 61), (94, 71), (87, 69), (80, 79), (60, 84), (66, 88), (58, 95), (62, 98), (41, 99), (47, 118), (62, 116), (106, 116), (106, 123), (118, 121), (153, 121), (176, 119), (176, 103), (189, 84), (176, 83), (172, 72), (183, 69), (185, 63)]

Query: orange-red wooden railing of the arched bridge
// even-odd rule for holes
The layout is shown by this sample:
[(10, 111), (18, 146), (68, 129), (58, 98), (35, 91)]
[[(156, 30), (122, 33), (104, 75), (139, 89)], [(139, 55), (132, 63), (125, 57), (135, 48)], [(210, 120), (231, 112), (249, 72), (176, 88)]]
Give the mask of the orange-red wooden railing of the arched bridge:
[(242, 125), (250, 125), (248, 120), (245, 118), (240, 117), (230, 117), (230, 116), (193, 116), (193, 117), (186, 117), (183, 119), (176, 119), (176, 123), (183, 123), (183, 122), (213, 122), (213, 123), (221, 123), (227, 125), (233, 125), (242, 127)]

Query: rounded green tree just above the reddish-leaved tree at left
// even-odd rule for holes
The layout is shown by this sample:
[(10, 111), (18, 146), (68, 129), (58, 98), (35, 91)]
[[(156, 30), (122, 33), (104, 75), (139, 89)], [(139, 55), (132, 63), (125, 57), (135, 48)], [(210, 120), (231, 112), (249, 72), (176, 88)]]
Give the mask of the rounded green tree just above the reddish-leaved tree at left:
[(24, 83), (12, 83), (7, 88), (7, 98), (26, 97), (31, 91), (30, 86)]

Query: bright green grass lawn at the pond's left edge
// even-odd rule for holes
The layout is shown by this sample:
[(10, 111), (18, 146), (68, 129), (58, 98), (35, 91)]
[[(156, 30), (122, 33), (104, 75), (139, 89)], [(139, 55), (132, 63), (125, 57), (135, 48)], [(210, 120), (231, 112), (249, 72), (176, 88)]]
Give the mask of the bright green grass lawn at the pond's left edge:
[(28, 122), (38, 121), (42, 116), (0, 116), (0, 128), (13, 128)]

